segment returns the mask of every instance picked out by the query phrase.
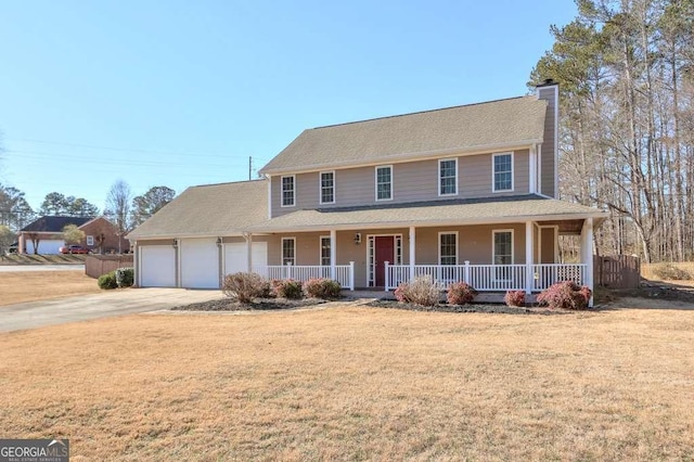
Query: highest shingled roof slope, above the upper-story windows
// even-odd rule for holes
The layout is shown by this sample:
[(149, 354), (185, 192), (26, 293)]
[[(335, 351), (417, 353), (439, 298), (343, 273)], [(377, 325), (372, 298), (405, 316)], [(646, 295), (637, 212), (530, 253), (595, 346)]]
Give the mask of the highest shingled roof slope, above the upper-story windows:
[(277, 175), (542, 142), (535, 95), (304, 130), (261, 170)]

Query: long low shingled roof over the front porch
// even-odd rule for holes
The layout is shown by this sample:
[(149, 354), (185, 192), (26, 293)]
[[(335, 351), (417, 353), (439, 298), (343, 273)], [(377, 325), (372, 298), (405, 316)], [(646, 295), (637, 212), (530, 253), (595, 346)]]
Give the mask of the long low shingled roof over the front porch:
[(580, 204), (528, 194), (475, 200), (447, 200), (364, 207), (297, 210), (248, 227), (249, 232), (349, 230), (363, 228), (426, 227), (451, 224), (542, 221), (561, 223), (607, 213)]

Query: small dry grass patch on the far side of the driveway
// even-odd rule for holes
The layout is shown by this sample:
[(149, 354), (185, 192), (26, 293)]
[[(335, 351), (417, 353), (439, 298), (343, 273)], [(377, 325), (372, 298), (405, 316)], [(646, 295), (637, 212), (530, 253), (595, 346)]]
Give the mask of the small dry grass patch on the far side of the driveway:
[(0, 272), (0, 309), (5, 305), (99, 291), (97, 280), (86, 275), (85, 270)]

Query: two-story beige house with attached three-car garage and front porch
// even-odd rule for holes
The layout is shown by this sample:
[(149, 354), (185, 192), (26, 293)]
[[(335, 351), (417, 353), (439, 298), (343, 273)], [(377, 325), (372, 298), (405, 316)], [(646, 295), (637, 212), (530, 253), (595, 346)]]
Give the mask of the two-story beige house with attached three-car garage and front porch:
[[(224, 274), (329, 277), (390, 290), (592, 286), (595, 208), (557, 196), (558, 88), (305, 130), (264, 180), (190, 188), (130, 233), (140, 285), (218, 287)], [(580, 234), (581, 261), (558, 261)]]

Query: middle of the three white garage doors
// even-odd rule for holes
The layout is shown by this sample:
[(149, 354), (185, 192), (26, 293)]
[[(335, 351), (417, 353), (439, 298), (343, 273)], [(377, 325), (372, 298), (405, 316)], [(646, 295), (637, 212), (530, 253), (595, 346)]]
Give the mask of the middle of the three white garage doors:
[(216, 239), (181, 240), (181, 285), (219, 288), (219, 247)]

